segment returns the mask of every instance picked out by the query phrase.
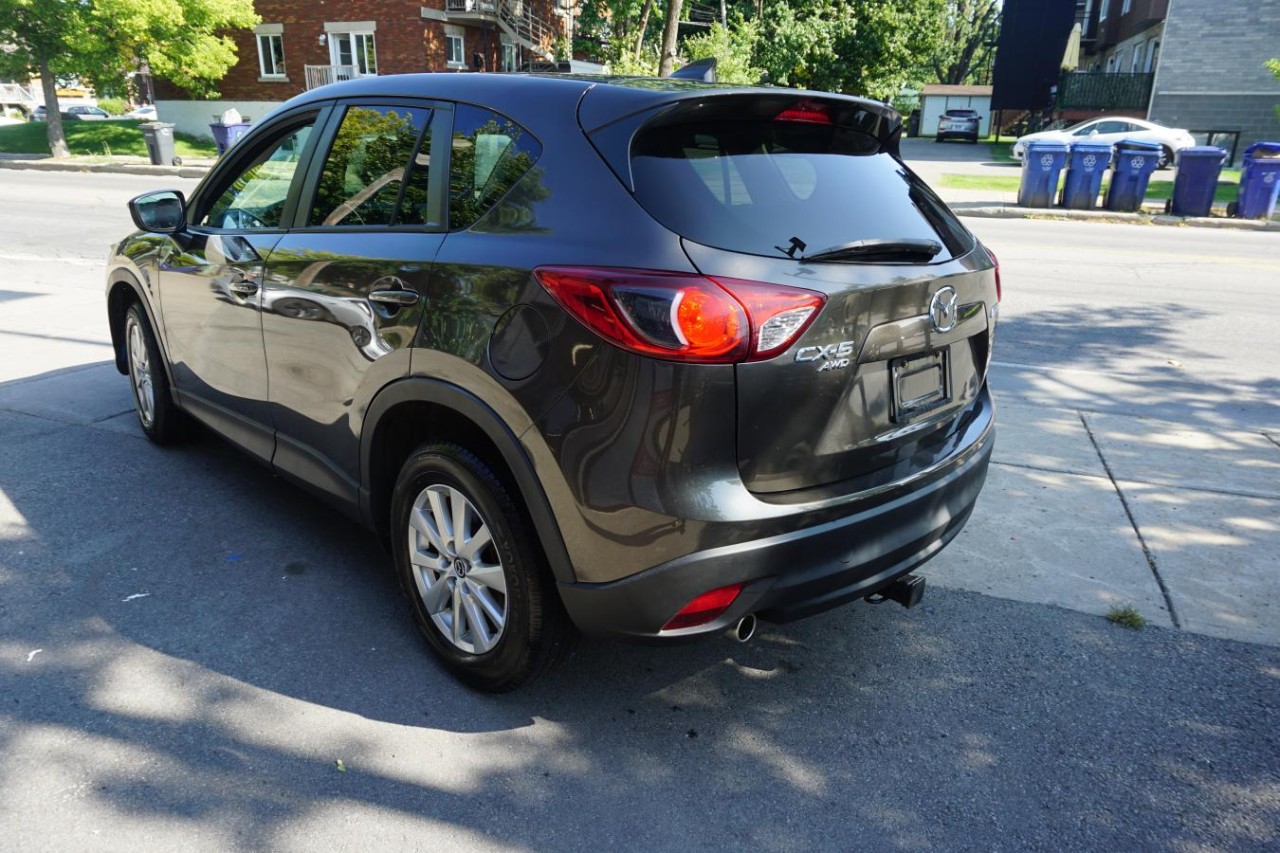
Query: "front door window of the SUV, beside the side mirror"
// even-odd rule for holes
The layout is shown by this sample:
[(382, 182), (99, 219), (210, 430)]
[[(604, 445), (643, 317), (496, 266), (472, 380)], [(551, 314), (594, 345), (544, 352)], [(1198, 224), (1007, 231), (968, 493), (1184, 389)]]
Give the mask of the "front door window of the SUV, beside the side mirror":
[(198, 224), (236, 231), (279, 228), (289, 184), (310, 136), (311, 124), (306, 124), (265, 147), (230, 179)]

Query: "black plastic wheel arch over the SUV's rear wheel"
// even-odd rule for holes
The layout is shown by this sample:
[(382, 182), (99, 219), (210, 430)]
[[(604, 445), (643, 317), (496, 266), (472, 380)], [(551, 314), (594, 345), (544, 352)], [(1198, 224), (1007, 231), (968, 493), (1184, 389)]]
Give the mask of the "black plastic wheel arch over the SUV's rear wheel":
[(384, 543), (396, 478), (413, 448), (428, 441), (460, 443), (492, 465), (518, 496), (556, 580), (576, 581), (550, 501), (516, 433), (471, 392), (428, 377), (399, 379), (380, 391), (361, 429), (361, 512)]

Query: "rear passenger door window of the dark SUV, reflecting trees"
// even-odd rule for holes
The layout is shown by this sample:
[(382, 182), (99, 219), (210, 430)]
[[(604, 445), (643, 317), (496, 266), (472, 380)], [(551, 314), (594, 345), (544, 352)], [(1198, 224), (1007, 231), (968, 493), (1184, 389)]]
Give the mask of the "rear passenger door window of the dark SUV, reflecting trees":
[(430, 122), (428, 109), (349, 108), (325, 158), (307, 224), (424, 224)]

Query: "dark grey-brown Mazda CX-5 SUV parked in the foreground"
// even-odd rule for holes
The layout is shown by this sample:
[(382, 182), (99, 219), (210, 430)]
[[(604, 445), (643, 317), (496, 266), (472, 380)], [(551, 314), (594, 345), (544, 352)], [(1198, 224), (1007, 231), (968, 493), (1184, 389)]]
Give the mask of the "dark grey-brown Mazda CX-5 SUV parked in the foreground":
[(506, 690), (579, 631), (858, 598), (973, 510), (995, 257), (822, 92), (420, 74), (310, 91), (131, 202), (116, 366), (370, 526), (431, 651)]

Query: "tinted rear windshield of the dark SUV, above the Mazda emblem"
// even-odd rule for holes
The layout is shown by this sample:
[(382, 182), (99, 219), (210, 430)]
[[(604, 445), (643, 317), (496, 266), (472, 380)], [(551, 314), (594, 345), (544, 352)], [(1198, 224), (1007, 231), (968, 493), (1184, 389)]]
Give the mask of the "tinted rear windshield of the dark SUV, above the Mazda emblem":
[[(858, 240), (972, 247), (937, 196), (859, 129), (794, 120), (687, 120), (646, 127), (631, 146), (636, 200), (695, 242), (808, 254)], [(945, 260), (943, 252), (934, 260)]]

